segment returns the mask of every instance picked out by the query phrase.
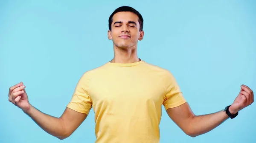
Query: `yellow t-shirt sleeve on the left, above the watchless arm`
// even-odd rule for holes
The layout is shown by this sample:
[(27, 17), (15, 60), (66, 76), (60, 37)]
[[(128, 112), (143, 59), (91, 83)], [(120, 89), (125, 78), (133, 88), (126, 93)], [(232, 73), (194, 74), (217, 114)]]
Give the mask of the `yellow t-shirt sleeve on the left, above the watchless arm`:
[(84, 73), (79, 79), (71, 101), (67, 107), (80, 113), (89, 114), (92, 108), (92, 102), (89, 95), (90, 77)]

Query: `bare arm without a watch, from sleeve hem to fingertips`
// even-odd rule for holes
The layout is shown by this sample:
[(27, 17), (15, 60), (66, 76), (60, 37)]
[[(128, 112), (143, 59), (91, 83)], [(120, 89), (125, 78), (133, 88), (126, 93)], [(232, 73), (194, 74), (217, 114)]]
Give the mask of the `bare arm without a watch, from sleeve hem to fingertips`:
[(39, 111), (29, 103), (22, 82), (10, 87), (9, 101), (22, 109), (44, 131), (61, 140), (69, 137), (87, 117), (86, 114), (76, 112), (70, 108), (66, 108), (60, 118)]

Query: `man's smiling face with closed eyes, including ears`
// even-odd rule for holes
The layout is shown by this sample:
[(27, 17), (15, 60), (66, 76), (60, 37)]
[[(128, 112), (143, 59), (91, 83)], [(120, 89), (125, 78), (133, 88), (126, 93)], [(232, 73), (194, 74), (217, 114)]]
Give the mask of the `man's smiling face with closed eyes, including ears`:
[(144, 31), (140, 31), (139, 18), (132, 12), (118, 12), (113, 15), (111, 31), (108, 31), (108, 39), (119, 48), (137, 47), (138, 40), (142, 40)]

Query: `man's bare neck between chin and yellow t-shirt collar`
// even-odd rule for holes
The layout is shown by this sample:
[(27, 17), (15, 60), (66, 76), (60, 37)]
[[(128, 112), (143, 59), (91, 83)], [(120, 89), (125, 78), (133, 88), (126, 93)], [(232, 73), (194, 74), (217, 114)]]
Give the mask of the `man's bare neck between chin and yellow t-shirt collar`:
[(137, 46), (131, 48), (119, 48), (114, 45), (114, 58), (111, 60), (111, 62), (133, 63), (139, 61), (140, 59), (137, 56)]

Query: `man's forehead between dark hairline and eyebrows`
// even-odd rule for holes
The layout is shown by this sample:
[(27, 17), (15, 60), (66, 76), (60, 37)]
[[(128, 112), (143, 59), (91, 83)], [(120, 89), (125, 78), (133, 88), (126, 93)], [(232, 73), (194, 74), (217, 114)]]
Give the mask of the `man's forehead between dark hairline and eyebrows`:
[(122, 12), (118, 12), (116, 14), (113, 15), (113, 22), (116, 21), (122, 21), (122, 22), (128, 22), (128, 21), (134, 21), (137, 24), (139, 24), (139, 17), (132, 13), (132, 12), (126, 12), (126, 11), (122, 11)]

